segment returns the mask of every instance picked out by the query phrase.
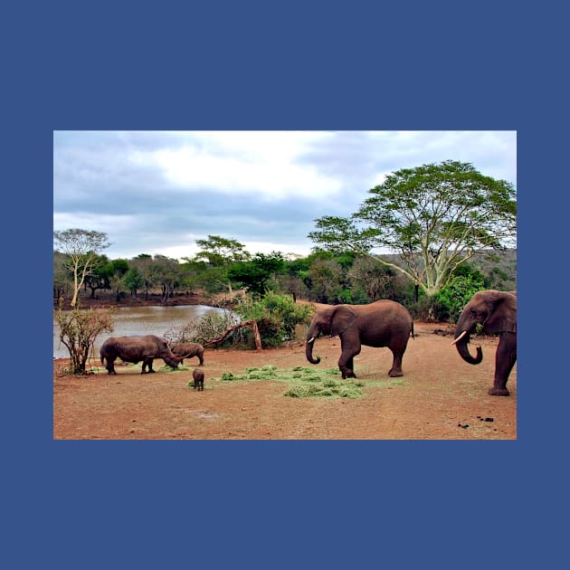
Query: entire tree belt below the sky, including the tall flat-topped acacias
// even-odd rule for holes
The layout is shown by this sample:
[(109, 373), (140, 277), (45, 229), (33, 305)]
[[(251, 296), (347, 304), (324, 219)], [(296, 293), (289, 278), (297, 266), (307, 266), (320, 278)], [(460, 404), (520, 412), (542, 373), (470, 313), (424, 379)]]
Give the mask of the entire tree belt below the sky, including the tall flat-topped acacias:
[[(200, 251), (182, 261), (146, 253), (109, 260), (101, 253), (109, 245), (105, 233), (54, 232), (54, 297), (71, 287), (74, 306), (80, 287), (91, 296), (113, 290), (118, 300), (160, 290), (166, 303), (176, 290), (240, 287), (260, 298), (273, 290), (323, 303), (394, 299), (420, 318), (452, 319), (476, 290), (516, 287), (516, 261), (514, 272), (477, 267), (507, 247), (516, 252), (516, 191), (507, 181), (447, 160), (395, 171), (368, 194), (355, 213), (316, 220), (313, 252), (294, 260), (251, 254), (219, 235), (197, 240)], [(379, 255), (379, 248), (394, 254)]]

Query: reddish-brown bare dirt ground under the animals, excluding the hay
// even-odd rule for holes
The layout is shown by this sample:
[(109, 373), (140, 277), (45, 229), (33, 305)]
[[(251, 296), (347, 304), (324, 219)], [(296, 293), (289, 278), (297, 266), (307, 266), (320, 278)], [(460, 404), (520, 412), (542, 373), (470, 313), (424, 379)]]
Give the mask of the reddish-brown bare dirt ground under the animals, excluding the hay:
[[(451, 347), (445, 325), (414, 324), (404, 355), (402, 385), (368, 386), (389, 380), (392, 354), (363, 347), (355, 358), (364, 395), (290, 398), (283, 382), (214, 381), (247, 367), (311, 366), (302, 343), (256, 351), (206, 349), (204, 392), (188, 387), (197, 358), (185, 372), (141, 375), (138, 366), (117, 366), (117, 375), (62, 375), (66, 360), (53, 361), (55, 440), (514, 440), (517, 439), (517, 368), (510, 396), (489, 396), (497, 338), (480, 344), (483, 362), (470, 366)], [(337, 366), (338, 338), (318, 339), (318, 368)], [(100, 362), (93, 360), (93, 366)], [(163, 366), (155, 361), (155, 369)]]

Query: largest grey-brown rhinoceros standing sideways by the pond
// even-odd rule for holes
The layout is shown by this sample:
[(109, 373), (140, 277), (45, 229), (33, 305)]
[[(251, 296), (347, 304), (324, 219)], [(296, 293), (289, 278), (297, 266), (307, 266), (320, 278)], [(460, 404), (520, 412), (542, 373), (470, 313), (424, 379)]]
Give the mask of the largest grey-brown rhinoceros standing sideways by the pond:
[[(143, 366), (140, 374), (155, 372), (152, 369), (152, 361), (162, 358), (168, 366), (176, 368), (181, 358), (173, 355), (168, 347), (166, 338), (155, 335), (145, 337), (109, 337), (100, 347), (101, 364), (107, 360), (107, 373), (115, 372), (115, 360), (119, 357), (124, 362), (137, 364), (142, 360)], [(148, 371), (145, 368), (148, 367)]]

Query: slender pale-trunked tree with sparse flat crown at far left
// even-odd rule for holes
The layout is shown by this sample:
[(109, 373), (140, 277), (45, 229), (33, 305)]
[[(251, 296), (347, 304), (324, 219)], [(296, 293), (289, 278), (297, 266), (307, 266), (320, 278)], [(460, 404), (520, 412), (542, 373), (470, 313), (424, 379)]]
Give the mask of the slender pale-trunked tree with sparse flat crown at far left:
[(73, 297), (71, 307), (77, 304), (79, 291), (85, 278), (93, 270), (99, 252), (109, 247), (107, 233), (93, 232), (72, 228), (70, 230), (53, 232), (53, 241), (59, 246), (60, 251), (67, 255), (67, 267), (73, 273)]

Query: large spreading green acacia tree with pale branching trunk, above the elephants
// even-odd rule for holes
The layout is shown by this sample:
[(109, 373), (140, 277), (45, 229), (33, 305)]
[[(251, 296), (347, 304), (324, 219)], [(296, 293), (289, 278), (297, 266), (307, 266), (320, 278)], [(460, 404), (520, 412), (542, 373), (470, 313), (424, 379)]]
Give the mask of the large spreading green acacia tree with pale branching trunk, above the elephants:
[[(516, 244), (513, 185), (483, 176), (469, 163), (404, 168), (368, 192), (350, 217), (316, 220), (309, 238), (325, 249), (370, 255), (404, 273), (428, 297), (475, 253)], [(399, 253), (403, 266), (375, 256), (378, 247)]]

